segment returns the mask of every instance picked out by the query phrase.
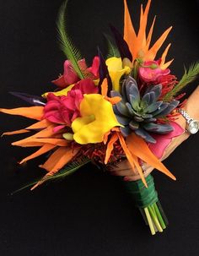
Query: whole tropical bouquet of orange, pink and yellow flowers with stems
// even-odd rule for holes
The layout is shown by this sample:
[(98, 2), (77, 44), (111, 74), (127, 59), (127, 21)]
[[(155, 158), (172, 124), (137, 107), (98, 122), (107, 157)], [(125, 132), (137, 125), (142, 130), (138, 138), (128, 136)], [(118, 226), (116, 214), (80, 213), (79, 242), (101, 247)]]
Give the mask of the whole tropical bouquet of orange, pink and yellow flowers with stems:
[(42, 96), (12, 92), (32, 106), (1, 108), (0, 112), (36, 120), (27, 128), (3, 133), (31, 132), (30, 137), (13, 142), (16, 146), (39, 148), (20, 164), (48, 152), (47, 161), (40, 166), (46, 169), (46, 176), (31, 189), (66, 177), (89, 161), (109, 170), (127, 159), (132, 173), (138, 173), (140, 179), (135, 182), (124, 179), (123, 182), (151, 233), (155, 234), (163, 231), (168, 221), (153, 177), (146, 177), (142, 166), (153, 166), (175, 180), (160, 159), (171, 139), (184, 133), (175, 123), (179, 115), (177, 109), (183, 103), (179, 101), (184, 95), (180, 91), (195, 79), (199, 65), (192, 65), (178, 81), (169, 70), (172, 60), (165, 62), (170, 44), (156, 59), (171, 27), (151, 46), (155, 19), (146, 35), (150, 3), (148, 0), (146, 8), (141, 7), (136, 33), (124, 1), (124, 34), (110, 25), (112, 37), (105, 35), (108, 56), (104, 57), (98, 49), (90, 67), (67, 35), (67, 2), (64, 3), (58, 15), (57, 30), (67, 60), (63, 74), (52, 81), (56, 90)]

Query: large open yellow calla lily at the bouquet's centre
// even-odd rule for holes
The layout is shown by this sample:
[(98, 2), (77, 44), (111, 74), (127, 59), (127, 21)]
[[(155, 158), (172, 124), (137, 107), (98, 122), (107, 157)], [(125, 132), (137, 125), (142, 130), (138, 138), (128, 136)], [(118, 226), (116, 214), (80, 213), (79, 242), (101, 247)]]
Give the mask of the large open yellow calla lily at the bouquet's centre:
[(72, 123), (73, 139), (78, 144), (99, 143), (111, 128), (121, 126), (117, 122), (112, 105), (102, 95), (84, 95), (80, 104), (82, 117)]

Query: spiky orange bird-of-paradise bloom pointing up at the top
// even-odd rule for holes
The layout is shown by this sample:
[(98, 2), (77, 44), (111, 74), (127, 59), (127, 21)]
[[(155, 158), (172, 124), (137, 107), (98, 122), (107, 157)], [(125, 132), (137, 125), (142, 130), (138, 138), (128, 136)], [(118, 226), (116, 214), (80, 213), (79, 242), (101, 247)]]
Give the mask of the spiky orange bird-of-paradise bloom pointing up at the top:
[[(147, 6), (143, 11), (143, 6), (141, 6), (141, 14), (140, 14), (140, 27), (138, 33), (136, 34), (134, 27), (132, 25), (132, 19), (129, 14), (126, 0), (124, 0), (125, 5), (125, 16), (124, 16), (124, 39), (129, 46), (130, 52), (132, 52), (133, 60), (136, 58), (141, 58), (144, 60), (152, 61), (155, 59), (157, 52), (159, 51), (160, 47), (163, 45), (165, 39), (169, 35), (169, 31), (172, 29), (170, 26), (169, 29), (165, 30), (163, 35), (159, 37), (159, 39), (150, 46), (151, 38), (153, 35), (153, 26), (155, 23), (155, 18), (153, 19), (153, 24), (148, 32), (148, 37), (146, 37), (146, 29), (148, 24), (148, 11), (150, 8), (151, 0), (148, 0)], [(169, 44), (170, 46), (170, 44)], [(165, 63), (165, 57), (168, 53), (169, 46), (166, 47), (164, 53), (161, 57), (160, 68), (168, 68), (170, 63), (173, 60)]]

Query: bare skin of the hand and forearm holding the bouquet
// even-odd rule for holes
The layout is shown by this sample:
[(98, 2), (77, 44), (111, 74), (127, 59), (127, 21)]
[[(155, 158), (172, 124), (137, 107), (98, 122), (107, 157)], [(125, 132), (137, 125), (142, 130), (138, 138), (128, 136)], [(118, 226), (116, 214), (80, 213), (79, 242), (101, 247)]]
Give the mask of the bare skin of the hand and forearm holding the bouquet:
[[(188, 100), (186, 101), (186, 105), (183, 109), (189, 114), (190, 117), (199, 120), (199, 85), (196, 87), (196, 90), (190, 95)], [(164, 151), (164, 155), (161, 161), (164, 161), (174, 150), (183, 143), (186, 139), (189, 138), (190, 133), (186, 132), (186, 119), (181, 115), (175, 121), (176, 123), (180, 124), (182, 128), (185, 129), (185, 133), (182, 133), (180, 136), (175, 137), (171, 140), (170, 144)], [(194, 135), (193, 135), (194, 136)], [(147, 177), (150, 172), (153, 171), (152, 166), (148, 166), (147, 164), (143, 164), (143, 172), (144, 176)], [(140, 179), (138, 172), (133, 173), (132, 168), (128, 161), (121, 161), (117, 164), (117, 168), (110, 171), (113, 175), (122, 176), (126, 181), (136, 181)]]

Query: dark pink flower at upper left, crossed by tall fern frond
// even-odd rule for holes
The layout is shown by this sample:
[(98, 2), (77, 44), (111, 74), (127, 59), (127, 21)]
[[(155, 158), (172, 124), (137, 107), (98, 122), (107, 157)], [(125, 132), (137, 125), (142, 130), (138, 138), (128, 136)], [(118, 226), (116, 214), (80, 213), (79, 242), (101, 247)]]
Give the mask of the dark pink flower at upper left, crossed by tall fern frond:
[[(93, 64), (90, 68), (87, 68), (85, 59), (78, 61), (78, 65), (90, 79), (99, 78), (99, 57), (94, 57)], [(66, 60), (63, 64), (63, 74), (58, 79), (53, 80), (52, 83), (56, 84), (59, 88), (66, 88), (68, 85), (75, 84), (79, 80), (78, 74), (74, 71), (72, 63)]]

